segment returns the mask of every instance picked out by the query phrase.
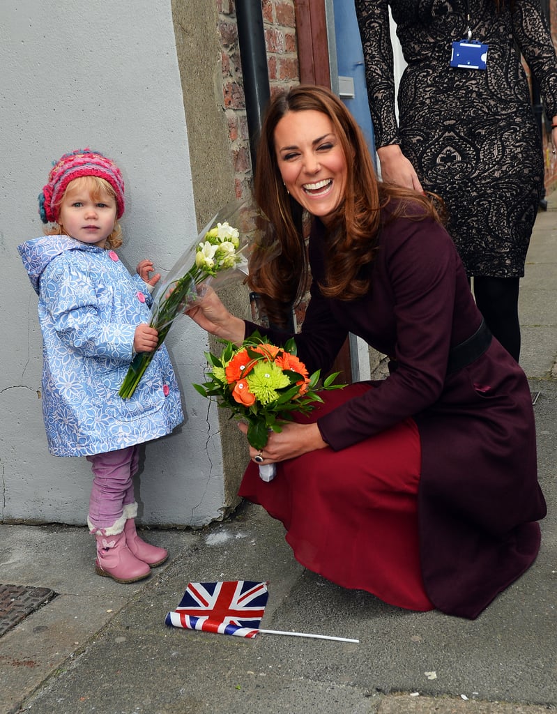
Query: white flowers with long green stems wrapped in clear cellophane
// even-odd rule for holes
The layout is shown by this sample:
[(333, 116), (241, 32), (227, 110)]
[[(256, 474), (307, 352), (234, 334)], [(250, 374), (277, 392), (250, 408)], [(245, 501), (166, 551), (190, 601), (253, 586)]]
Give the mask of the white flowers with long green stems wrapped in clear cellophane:
[[(270, 260), (278, 251), (273, 233), (271, 224), (251, 199), (229, 203), (211, 218), (156, 286), (149, 326), (159, 332), (157, 349), (176, 318), (204, 295), (207, 286), (218, 289), (245, 278), (249, 253), (256, 246), (259, 261), (261, 256)], [(267, 247), (261, 248), (261, 243)], [(131, 397), (154, 355), (155, 351), (136, 354), (119, 390), (121, 398)]]

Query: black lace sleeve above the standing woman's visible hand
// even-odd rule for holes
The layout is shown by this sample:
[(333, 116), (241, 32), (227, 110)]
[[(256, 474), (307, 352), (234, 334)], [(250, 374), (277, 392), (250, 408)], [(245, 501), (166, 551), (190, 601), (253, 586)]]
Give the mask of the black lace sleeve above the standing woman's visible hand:
[(393, 48), (387, 0), (356, 0), (368, 102), (376, 147), (400, 144), (395, 114)]

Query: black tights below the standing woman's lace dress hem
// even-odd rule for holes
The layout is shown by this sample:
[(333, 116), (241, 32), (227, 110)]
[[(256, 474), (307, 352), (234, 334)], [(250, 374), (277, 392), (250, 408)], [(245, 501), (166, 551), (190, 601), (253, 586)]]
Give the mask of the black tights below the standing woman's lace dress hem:
[(521, 354), (521, 326), (518, 321), (520, 278), (473, 278), (476, 305), (491, 330), (518, 362)]

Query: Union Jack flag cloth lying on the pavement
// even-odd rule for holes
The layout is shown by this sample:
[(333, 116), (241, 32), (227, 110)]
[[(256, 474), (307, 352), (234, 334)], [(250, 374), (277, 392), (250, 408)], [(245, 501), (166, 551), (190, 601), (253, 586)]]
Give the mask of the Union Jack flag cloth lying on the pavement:
[(165, 623), (188, 630), (253, 638), (267, 597), (267, 583), (254, 580), (189, 583), (181, 603), (166, 615)]

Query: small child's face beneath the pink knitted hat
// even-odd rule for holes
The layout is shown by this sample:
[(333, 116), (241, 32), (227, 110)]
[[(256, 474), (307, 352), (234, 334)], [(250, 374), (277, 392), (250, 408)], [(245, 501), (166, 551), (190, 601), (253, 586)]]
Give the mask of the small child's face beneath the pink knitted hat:
[(58, 216), (66, 236), (104, 248), (116, 223), (116, 201), (106, 191), (95, 189), (87, 177), (69, 183)]

